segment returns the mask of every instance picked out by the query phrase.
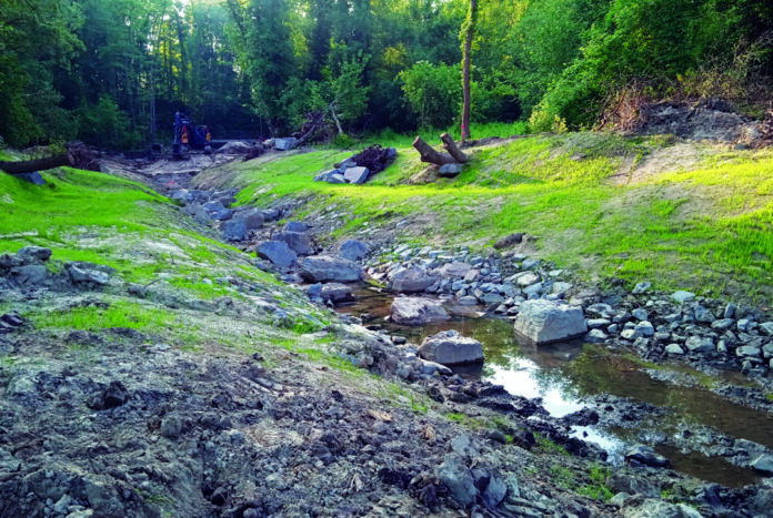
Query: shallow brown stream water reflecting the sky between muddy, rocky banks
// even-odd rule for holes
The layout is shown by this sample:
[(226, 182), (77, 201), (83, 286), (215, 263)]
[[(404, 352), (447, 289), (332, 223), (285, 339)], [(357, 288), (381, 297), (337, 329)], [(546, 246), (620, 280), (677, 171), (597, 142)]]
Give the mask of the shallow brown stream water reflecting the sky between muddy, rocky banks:
[[(454, 369), (468, 379), (481, 378), (502, 385), (513, 395), (541, 398), (542, 406), (554, 417), (562, 417), (585, 406), (598, 406), (602, 394), (647, 403), (666, 410), (665, 416), (644, 418), (633, 427), (574, 426), (573, 435), (604, 448), (612, 464), (623, 461), (626, 448), (647, 444), (667, 457), (672, 467), (702, 480), (741, 488), (763, 479), (750, 468), (709, 457), (695, 449), (674, 446), (671, 438), (685, 435), (692, 426), (711, 427), (736, 439), (747, 439), (773, 448), (773, 416), (734, 403), (700, 386), (685, 387), (654, 379), (623, 352), (603, 346), (584, 346), (581, 342), (540, 346), (522, 343), (506, 318), (484, 315), (480, 307), (446, 306), (449, 322), (410, 327), (389, 321), (394, 295), (372, 287), (354, 291), (357, 302), (338, 307), (355, 316), (369, 314), (365, 325), (379, 324), (391, 334), (421, 344), (424, 337), (441, 331), (456, 329), (483, 344), (485, 363), (472, 368)], [(740, 374), (727, 373), (737, 382)], [(641, 417), (641, 416), (640, 416)]]

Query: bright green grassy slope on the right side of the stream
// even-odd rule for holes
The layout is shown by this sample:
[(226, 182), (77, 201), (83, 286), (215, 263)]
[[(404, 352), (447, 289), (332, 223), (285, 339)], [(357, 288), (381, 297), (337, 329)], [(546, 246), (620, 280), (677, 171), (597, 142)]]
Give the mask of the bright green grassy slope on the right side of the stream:
[(692, 160), (672, 160), (676, 145), (683, 144), (667, 136), (522, 138), (475, 149), (460, 176), (424, 184), (412, 184), (425, 166), (402, 148), (364, 186), (312, 182), (350, 154), (320, 150), (248, 162), (229, 179), (244, 186), (241, 203), (311, 194), (318, 197), (307, 212), (323, 203), (345, 206), (344, 233), (424, 213), (434, 222), (423, 232), (428, 242), (485, 248), (528, 232), (539, 236), (534, 253), (590, 277), (765, 302), (773, 275), (773, 152), (691, 144)]

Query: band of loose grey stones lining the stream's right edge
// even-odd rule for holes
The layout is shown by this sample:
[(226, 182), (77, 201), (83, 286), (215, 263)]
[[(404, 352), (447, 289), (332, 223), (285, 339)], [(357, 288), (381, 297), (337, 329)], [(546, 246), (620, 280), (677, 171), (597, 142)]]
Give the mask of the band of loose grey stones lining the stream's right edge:
[(424, 324), (422, 315), (442, 319), (442, 303), (484, 305), (514, 319), (515, 331), (538, 344), (580, 337), (630, 346), (652, 360), (735, 363), (756, 375), (773, 368), (773, 319), (751, 307), (699, 299), (683, 291), (651, 294), (650, 283), (602, 294), (566, 282), (564, 271), (513, 252), (483, 256), (469, 248), (400, 245), (375, 255), (389, 260), (371, 260), (369, 276), (395, 293), (420, 295), (395, 299), (392, 317), (398, 323)]

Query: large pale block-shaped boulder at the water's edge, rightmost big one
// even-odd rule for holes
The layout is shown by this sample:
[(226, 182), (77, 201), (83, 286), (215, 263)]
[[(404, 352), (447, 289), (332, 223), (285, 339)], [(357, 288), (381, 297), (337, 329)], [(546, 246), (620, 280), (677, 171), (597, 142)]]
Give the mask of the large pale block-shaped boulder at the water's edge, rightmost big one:
[(541, 345), (582, 336), (588, 326), (581, 307), (536, 299), (521, 304), (515, 333)]

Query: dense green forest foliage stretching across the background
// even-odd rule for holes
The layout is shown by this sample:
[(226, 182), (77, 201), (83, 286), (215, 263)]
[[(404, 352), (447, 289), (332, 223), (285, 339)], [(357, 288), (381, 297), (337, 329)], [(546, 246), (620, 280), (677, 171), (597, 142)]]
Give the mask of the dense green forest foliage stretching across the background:
[[(127, 149), (177, 110), (217, 136), (324, 112), (341, 133), (460, 122), (469, 0), (3, 0), (0, 135)], [(592, 125), (621, 92), (753, 111), (773, 74), (767, 0), (488, 0), (472, 121)], [(558, 124), (558, 125), (556, 125)], [(473, 128), (474, 136), (474, 128)]]

